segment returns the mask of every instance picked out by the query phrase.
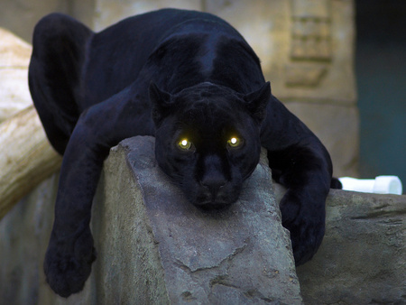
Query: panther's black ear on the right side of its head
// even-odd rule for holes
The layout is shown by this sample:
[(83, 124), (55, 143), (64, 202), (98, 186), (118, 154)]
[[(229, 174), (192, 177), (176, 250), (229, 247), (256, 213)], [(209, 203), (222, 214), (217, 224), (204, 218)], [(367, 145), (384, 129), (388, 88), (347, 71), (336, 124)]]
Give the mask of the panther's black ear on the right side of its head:
[(245, 106), (252, 116), (261, 123), (265, 117), (265, 109), (271, 97), (271, 83), (266, 82), (263, 87), (245, 95)]

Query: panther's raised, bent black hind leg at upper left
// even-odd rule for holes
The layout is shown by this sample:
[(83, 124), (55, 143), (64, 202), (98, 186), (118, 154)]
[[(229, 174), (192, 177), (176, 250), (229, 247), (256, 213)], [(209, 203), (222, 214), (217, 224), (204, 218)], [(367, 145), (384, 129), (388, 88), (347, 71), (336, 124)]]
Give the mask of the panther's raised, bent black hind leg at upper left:
[(63, 14), (49, 14), (35, 26), (29, 86), (52, 146), (63, 154), (80, 112), (80, 82), (87, 44), (86, 26)]

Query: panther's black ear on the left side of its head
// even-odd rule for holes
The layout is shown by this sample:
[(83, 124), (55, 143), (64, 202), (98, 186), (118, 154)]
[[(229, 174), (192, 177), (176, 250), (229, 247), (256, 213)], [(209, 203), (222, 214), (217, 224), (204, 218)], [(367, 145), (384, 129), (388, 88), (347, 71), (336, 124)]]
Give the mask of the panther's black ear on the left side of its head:
[(161, 120), (168, 116), (171, 108), (171, 94), (162, 91), (155, 83), (150, 84), (148, 89), (152, 103), (152, 120), (155, 125), (160, 125)]

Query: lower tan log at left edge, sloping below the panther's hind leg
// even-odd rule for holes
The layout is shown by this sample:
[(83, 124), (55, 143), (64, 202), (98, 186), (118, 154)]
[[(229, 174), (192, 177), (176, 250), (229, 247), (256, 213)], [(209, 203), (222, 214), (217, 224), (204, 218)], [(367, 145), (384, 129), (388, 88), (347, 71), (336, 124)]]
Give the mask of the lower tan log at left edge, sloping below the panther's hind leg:
[(0, 219), (32, 188), (60, 169), (61, 156), (28, 106), (0, 125)]

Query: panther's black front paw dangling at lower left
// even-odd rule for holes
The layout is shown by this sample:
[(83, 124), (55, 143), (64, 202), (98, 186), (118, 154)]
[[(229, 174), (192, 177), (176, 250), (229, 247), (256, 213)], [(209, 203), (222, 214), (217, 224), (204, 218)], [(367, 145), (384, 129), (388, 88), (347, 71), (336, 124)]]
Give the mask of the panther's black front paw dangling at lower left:
[(46, 280), (61, 297), (81, 291), (96, 259), (90, 230), (75, 241), (51, 238), (43, 264)]

